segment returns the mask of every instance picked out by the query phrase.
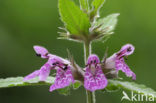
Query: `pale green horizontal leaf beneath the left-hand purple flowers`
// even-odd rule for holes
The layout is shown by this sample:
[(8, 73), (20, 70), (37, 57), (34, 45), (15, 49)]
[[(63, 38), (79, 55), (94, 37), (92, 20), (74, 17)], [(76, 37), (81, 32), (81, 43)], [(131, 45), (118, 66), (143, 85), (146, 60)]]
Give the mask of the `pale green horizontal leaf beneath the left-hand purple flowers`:
[(33, 85), (51, 85), (54, 83), (54, 77), (48, 77), (45, 82), (40, 82), (38, 78), (34, 78), (27, 82), (23, 82), (23, 77), (12, 77), (0, 79), (0, 88), (16, 87), (16, 86), (33, 86)]

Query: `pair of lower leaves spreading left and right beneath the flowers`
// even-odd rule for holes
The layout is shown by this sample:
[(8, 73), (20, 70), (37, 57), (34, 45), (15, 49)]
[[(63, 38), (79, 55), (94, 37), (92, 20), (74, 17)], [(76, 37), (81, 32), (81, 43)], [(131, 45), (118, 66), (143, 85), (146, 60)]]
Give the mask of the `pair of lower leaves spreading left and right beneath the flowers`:
[[(14, 77), (14, 78), (6, 78), (6, 79), (0, 79), (0, 88), (8, 88), (8, 87), (20, 87), (20, 86), (35, 86), (35, 85), (51, 85), (54, 83), (55, 78), (54, 77), (48, 77), (48, 79), (45, 82), (40, 82), (39, 79), (34, 78), (32, 80), (29, 80), (27, 83), (23, 82), (23, 77)], [(79, 82), (76, 82), (73, 84), (73, 89), (78, 89), (81, 86)], [(59, 93), (63, 95), (68, 95), (70, 92), (70, 87), (63, 88), (58, 90)], [(118, 80), (108, 80), (108, 85), (105, 88), (106, 91), (116, 91), (118, 88), (122, 88), (129, 91), (134, 91), (139, 94), (144, 95), (153, 95), (156, 100), (156, 92), (146, 87), (145, 85), (136, 84), (134, 82), (124, 82), (124, 81), (118, 81)]]

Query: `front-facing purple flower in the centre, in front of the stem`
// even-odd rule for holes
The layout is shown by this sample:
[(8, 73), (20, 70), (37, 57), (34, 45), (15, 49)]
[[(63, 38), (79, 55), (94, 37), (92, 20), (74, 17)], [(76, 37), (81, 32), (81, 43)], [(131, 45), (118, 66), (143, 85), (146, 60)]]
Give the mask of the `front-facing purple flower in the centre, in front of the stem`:
[(100, 60), (96, 55), (90, 55), (84, 77), (84, 87), (89, 91), (104, 89), (107, 79), (101, 69)]

